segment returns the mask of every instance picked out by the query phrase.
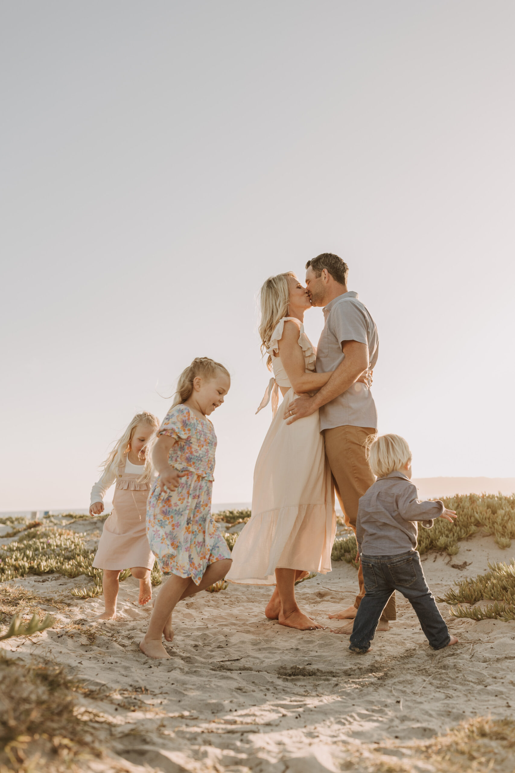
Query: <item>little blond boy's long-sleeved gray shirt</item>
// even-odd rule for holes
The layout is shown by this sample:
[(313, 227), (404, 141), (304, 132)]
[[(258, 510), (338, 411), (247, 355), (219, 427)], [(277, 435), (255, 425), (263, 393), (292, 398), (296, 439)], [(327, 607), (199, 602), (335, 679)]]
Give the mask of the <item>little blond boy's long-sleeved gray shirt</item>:
[(402, 472), (378, 478), (359, 501), (356, 540), (363, 556), (397, 556), (417, 547), (417, 521), (430, 529), (443, 502), (421, 502), (417, 487)]

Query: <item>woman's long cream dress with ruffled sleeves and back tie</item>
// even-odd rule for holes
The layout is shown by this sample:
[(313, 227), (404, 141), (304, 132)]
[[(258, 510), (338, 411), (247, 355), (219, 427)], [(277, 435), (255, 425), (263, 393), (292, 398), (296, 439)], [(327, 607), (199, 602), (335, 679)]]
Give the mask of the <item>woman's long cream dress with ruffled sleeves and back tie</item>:
[[(284, 317), (273, 332), (269, 354), (273, 373), (258, 411), (272, 398), (273, 421), (254, 470), (252, 517), (232, 549), (226, 580), (274, 585), (276, 568), (330, 572), (330, 552), (336, 533), (334, 491), (320, 434), (318, 411), (286, 424), (283, 416), (297, 395), (286, 376), (278, 342), (284, 322), (300, 329), (306, 372), (315, 369), (315, 349), (296, 318)], [(278, 407), (279, 386), (289, 387)], [(257, 411), (256, 411), (257, 413)]]

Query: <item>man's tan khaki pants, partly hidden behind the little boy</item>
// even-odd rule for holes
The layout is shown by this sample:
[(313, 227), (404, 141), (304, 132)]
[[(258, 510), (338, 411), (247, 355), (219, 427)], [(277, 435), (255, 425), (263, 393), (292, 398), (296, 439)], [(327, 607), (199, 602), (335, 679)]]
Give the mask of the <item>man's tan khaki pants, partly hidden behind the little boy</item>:
[[(370, 489), (375, 478), (368, 465), (367, 441), (375, 437), (377, 430), (371, 427), (351, 427), (345, 424), (343, 427), (333, 427), (324, 430), (327, 461), (333, 474), (334, 491), (336, 492), (344, 520), (347, 526), (351, 526), (356, 534), (357, 506), (359, 498)], [(357, 609), (364, 597), (363, 570), (361, 558), (357, 572), (359, 593), (354, 601)], [(388, 599), (388, 603), (381, 614), (381, 620), (395, 620), (395, 591)]]

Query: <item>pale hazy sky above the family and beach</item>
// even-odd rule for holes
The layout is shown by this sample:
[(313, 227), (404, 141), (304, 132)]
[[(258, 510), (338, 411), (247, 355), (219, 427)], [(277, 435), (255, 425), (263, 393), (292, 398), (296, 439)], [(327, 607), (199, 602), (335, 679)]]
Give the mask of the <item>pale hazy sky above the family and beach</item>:
[(213, 501), (249, 500), (256, 295), (324, 251), (415, 477), (515, 475), (511, 0), (0, 8), (0, 509), (88, 506), (195, 356), (232, 373)]

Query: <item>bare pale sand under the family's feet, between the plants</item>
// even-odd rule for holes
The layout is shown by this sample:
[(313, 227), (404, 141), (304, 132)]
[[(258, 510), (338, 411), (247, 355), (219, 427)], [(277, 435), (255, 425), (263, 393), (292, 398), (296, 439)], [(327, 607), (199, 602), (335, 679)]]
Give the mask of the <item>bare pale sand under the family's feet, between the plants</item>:
[[(488, 560), (511, 554), (492, 537), (476, 536), (460, 543), (456, 556), (422, 558), (437, 596), (486, 570)], [(138, 649), (151, 609), (138, 607), (137, 581), (121, 584), (119, 618), (107, 622), (93, 620), (102, 598), (69, 596), (86, 582), (56, 575), (12, 581), (40, 595), (61, 591), (66, 608), (56, 612), (56, 628), (1, 645), (8, 656), (64, 663), (93, 690), (87, 704), (108, 720), (110, 732), (99, 730), (99, 743), (101, 737), (110, 759), (122, 764), (117, 769), (431, 771), (415, 754), (414, 739), (445, 733), (469, 717), (514, 718), (513, 622), (459, 620), (439, 604), (460, 643), (434, 652), (411, 606), (398, 597), (391, 631), (378, 633), (371, 652), (357, 656), (347, 636), (267, 621), (268, 588), (229, 584), (178, 605), (171, 660), (156, 662)], [(297, 586), (297, 597), (318, 622), (335, 625), (327, 615), (351, 604), (356, 588), (356, 570), (337, 563), (330, 574)], [(377, 767), (388, 760), (402, 765)], [(84, 769), (114, 765), (104, 758)], [(495, 769), (511, 771), (513, 764)]]

